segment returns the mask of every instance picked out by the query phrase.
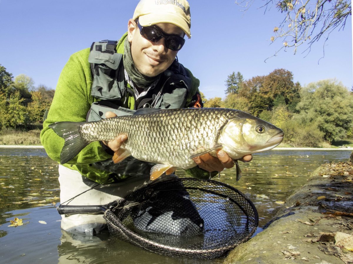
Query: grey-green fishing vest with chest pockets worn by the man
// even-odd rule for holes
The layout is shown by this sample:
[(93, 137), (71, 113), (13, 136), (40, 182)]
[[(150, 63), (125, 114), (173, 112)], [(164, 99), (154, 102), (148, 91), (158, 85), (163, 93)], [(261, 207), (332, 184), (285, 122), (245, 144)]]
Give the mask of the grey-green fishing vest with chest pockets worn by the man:
[[(141, 107), (184, 108), (191, 102), (197, 88), (191, 90), (191, 78), (177, 59), (161, 74), (155, 88), (136, 101), (133, 90), (127, 87), (123, 55), (116, 52), (116, 44), (117, 41), (102, 40), (91, 45), (88, 57), (93, 76), (91, 95), (100, 101), (92, 103), (87, 121), (104, 119), (107, 111), (122, 116)], [(129, 108), (132, 98), (134, 109)]]

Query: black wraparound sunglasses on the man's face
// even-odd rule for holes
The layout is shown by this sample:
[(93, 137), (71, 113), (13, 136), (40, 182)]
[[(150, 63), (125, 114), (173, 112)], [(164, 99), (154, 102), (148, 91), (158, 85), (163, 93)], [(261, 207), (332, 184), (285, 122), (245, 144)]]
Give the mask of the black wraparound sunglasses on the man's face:
[(140, 30), (141, 36), (144, 37), (145, 39), (152, 41), (152, 42), (157, 42), (161, 38), (164, 38), (165, 45), (168, 49), (180, 50), (181, 48), (183, 48), (183, 45), (185, 43), (184, 38), (164, 33), (164, 32), (162, 32), (161, 29), (159, 29), (156, 26), (143, 27), (138, 23), (138, 20), (136, 20), (136, 23), (137, 23), (137, 26)]

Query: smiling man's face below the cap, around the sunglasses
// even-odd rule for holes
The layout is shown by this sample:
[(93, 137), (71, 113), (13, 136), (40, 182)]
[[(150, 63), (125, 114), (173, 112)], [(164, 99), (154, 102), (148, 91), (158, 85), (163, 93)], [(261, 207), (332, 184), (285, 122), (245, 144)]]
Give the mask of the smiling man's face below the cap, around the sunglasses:
[[(184, 36), (183, 30), (173, 24), (156, 24), (164, 33)], [(141, 36), (138, 26), (132, 19), (128, 22), (128, 41), (131, 43), (131, 55), (136, 68), (146, 76), (157, 76), (173, 63), (178, 51), (164, 46), (164, 38), (151, 42)]]

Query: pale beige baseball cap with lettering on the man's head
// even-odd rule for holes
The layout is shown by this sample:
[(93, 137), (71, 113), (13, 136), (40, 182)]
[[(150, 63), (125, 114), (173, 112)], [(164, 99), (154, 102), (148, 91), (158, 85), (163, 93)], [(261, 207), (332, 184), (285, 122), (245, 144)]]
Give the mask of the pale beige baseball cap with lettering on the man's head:
[(141, 0), (133, 14), (141, 26), (170, 23), (180, 27), (191, 38), (190, 6), (186, 0)]

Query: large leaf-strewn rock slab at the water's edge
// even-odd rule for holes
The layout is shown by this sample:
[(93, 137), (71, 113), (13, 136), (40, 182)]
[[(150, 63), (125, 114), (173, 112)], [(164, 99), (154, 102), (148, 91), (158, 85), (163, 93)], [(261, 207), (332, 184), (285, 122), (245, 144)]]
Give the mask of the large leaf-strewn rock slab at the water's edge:
[(353, 263), (353, 252), (335, 241), (341, 233), (353, 240), (352, 159), (353, 153), (347, 163), (316, 169), (265, 230), (237, 246), (225, 263)]

